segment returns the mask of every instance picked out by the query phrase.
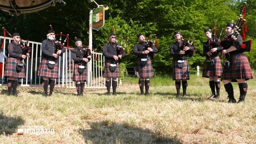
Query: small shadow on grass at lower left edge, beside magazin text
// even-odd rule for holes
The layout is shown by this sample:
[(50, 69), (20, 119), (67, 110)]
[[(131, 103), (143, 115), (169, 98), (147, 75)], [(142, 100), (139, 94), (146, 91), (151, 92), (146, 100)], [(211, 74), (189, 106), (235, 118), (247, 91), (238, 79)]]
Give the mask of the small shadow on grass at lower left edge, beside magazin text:
[(24, 122), (21, 117), (7, 117), (0, 112), (0, 134), (12, 135)]

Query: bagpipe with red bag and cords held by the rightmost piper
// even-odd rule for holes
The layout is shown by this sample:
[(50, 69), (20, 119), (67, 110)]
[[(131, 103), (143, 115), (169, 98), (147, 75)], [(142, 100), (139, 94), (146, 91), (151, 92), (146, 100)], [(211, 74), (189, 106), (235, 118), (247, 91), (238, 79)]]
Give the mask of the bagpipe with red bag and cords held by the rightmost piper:
[[(237, 36), (240, 34), (239, 31), (242, 29), (242, 52), (251, 52), (251, 42), (252, 40), (245, 40), (245, 34), (247, 33), (247, 25), (246, 25), (246, 2), (243, 3), (241, 12), (238, 17), (238, 21), (234, 26), (234, 32), (231, 36), (224, 36), (224, 40), (221, 40), (221, 45), (224, 49), (228, 49), (230, 46), (235, 44), (237, 40)], [(243, 16), (242, 16), (243, 15)]]

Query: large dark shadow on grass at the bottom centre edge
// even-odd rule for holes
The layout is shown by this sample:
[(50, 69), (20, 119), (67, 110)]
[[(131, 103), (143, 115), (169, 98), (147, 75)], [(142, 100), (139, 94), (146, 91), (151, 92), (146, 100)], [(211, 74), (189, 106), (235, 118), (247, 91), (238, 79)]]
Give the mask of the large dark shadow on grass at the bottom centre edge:
[(162, 136), (159, 131), (151, 131), (110, 121), (89, 122), (90, 129), (80, 129), (85, 143), (91, 144), (183, 144), (181, 139)]

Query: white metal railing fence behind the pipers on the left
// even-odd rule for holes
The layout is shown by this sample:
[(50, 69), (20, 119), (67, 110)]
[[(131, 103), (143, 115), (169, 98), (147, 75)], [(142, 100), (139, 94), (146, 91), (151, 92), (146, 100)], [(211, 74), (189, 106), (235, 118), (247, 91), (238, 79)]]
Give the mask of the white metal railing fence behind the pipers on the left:
[[(0, 45), (4, 49), (0, 49), (0, 85), (6, 85), (7, 77), (4, 76), (5, 58), (8, 57), (7, 47), (12, 38), (0, 36)], [(29, 41), (32, 47), (30, 58), (24, 59), (26, 63), (26, 79), (19, 79), (20, 86), (41, 86), (42, 77), (37, 76), (39, 63), (41, 60), (41, 43)], [(97, 57), (97, 60), (95, 60)], [(59, 78), (56, 79), (56, 86), (75, 88), (73, 77), (73, 59), (70, 49), (62, 57), (58, 58)], [(105, 88), (105, 78), (103, 78), (104, 56), (101, 53), (92, 51), (92, 59), (87, 63), (87, 84), (86, 88)]]

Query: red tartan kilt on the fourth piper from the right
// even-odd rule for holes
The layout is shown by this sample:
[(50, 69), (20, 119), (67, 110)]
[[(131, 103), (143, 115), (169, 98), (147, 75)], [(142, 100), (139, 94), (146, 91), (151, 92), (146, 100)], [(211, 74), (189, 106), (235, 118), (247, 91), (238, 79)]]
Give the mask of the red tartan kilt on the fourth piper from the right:
[(146, 66), (141, 66), (141, 58), (137, 58), (135, 76), (138, 78), (151, 78), (154, 76), (151, 58), (147, 58)]

